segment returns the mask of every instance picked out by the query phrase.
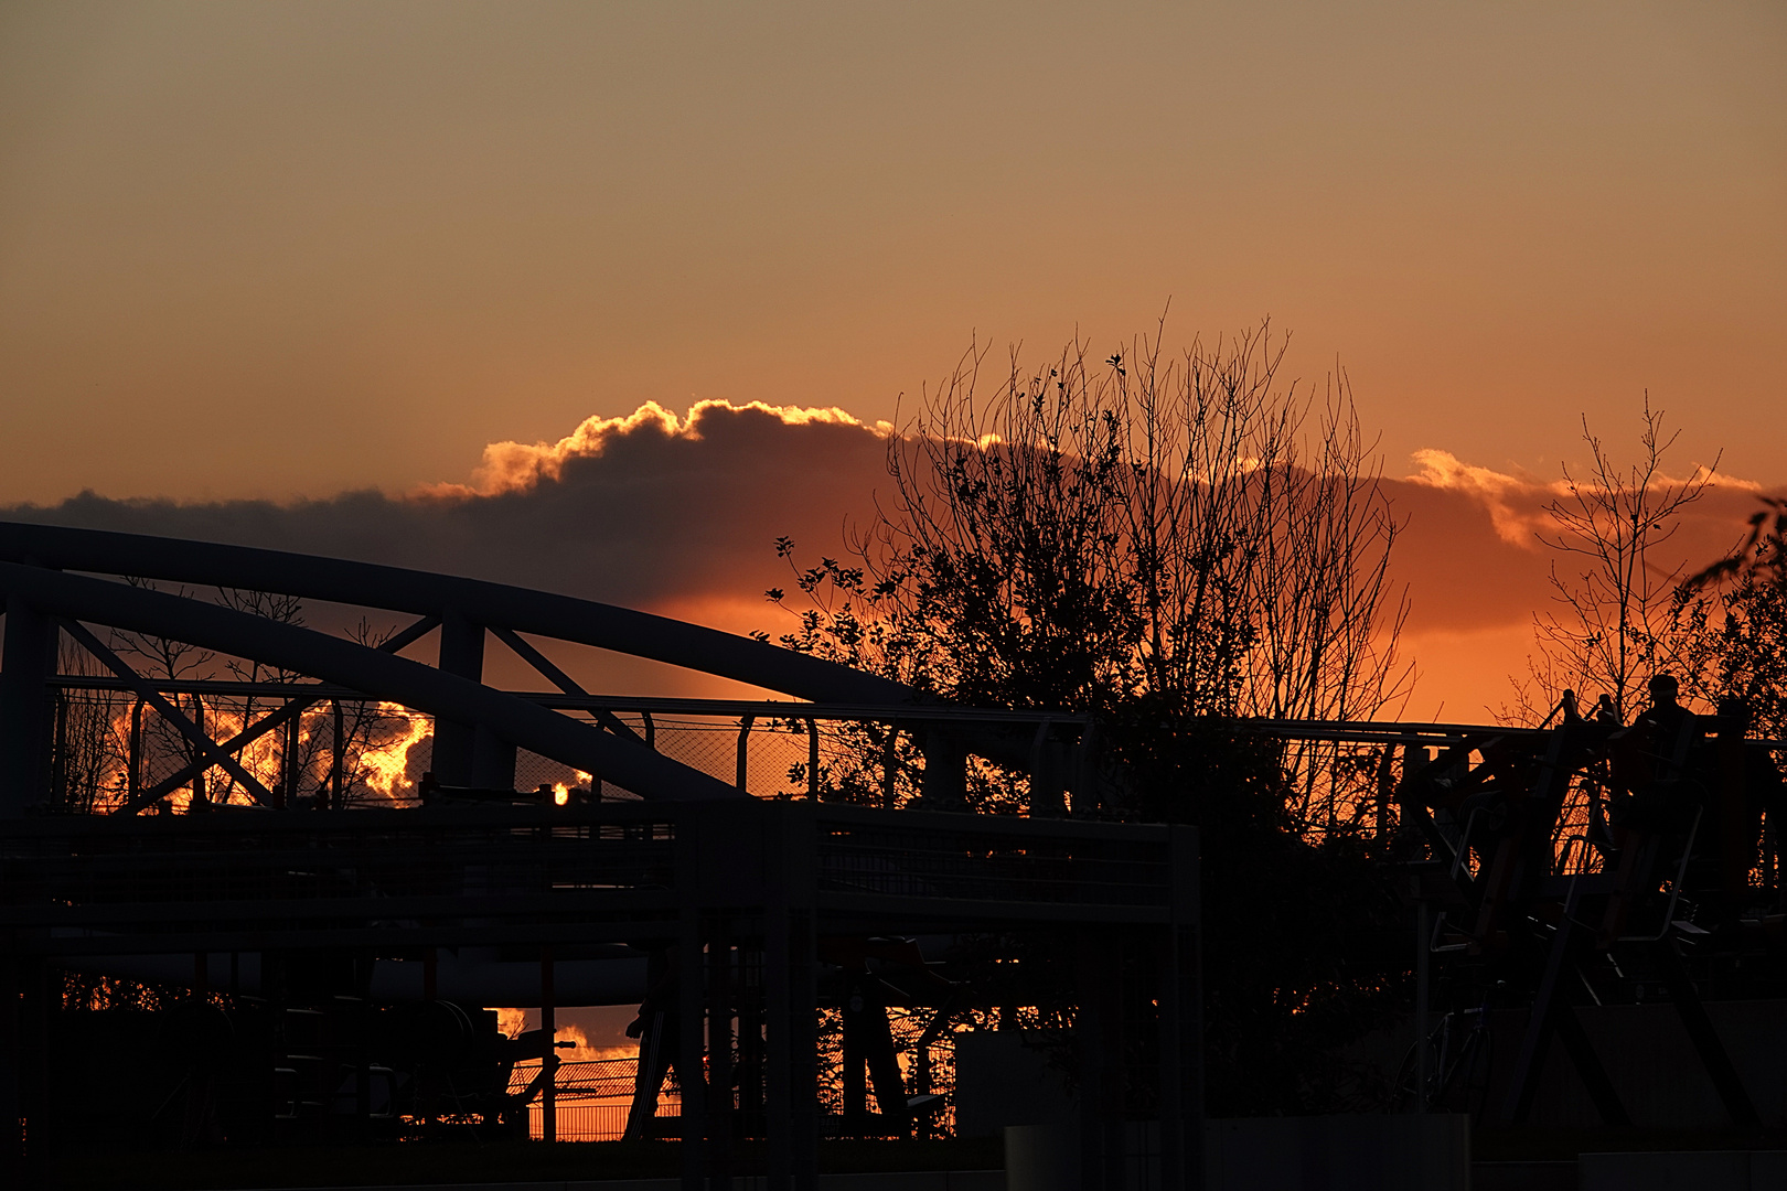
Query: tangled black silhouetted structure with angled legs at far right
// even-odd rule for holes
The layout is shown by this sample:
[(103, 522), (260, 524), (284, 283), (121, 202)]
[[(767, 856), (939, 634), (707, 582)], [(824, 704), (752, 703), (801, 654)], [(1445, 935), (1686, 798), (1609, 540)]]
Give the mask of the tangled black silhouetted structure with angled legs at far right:
[(1651, 686), (1632, 725), (1565, 695), (1553, 727), (1405, 761), (1417, 1020), (1442, 1016), (1392, 1107), (1490, 1129), (1787, 1125), (1766, 1075), (1787, 1025), (1780, 741), (1749, 737), (1739, 704), (1696, 716)]

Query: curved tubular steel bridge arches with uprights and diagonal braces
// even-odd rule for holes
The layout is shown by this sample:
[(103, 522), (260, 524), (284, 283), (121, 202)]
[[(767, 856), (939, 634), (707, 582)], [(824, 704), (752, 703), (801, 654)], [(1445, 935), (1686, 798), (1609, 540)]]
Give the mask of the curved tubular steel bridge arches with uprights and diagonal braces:
[[(109, 575), (113, 579), (98, 579)], [(118, 582), (122, 577), (232, 587), (418, 616), (399, 634), (440, 632), (427, 666), (315, 629)], [(482, 682), (486, 630), (566, 693), (563, 671), (516, 634), (552, 637), (668, 662), (801, 700), (888, 712), (915, 693), (836, 662), (634, 609), (454, 575), (143, 534), (0, 521), (0, 816), (18, 816), (46, 791), (48, 682), (68, 632), (125, 682), (147, 680), (84, 627), (173, 637), (404, 704), (436, 718), (434, 771), (449, 786), (513, 784), (527, 748), (602, 773), (647, 798), (742, 796), (736, 786), (665, 757), (611, 721), (604, 730)], [(320, 695), (318, 698), (325, 698)], [(204, 745), (200, 745), (204, 748)], [(220, 764), (227, 762), (220, 761)]]

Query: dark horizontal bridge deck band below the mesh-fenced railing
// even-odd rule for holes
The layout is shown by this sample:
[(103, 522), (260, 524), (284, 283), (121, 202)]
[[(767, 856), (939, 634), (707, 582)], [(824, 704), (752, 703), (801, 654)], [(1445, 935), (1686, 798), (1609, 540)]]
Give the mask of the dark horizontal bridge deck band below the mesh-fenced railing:
[[(786, 896), (852, 920), (1153, 923), (1176, 832), (808, 802), (43, 816), (0, 825), (0, 929), (48, 952), (624, 939)], [(774, 893), (790, 873), (801, 891)]]

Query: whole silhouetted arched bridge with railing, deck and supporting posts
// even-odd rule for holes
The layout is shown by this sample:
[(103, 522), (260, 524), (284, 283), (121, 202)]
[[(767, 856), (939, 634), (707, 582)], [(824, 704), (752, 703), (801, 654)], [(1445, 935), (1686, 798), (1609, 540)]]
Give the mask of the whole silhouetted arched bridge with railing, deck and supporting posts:
[[(5, 1186), (71, 1145), (525, 1137), (531, 1105), (552, 1137), (556, 1009), (640, 1004), (629, 1132), (681, 1137), (688, 1187), (727, 1186), (751, 1139), (770, 1186), (810, 1187), (820, 1137), (911, 1137), (947, 1109), (929, 1046), (990, 993), (938, 959), (1038, 945), (1072, 973), (1081, 1186), (1122, 1186), (1138, 1118), (1160, 1186), (1199, 1182), (1196, 832), (1094, 821), (1083, 720), (926, 707), (627, 609), (191, 541), (0, 525), (0, 596)], [(298, 600), (413, 620), (347, 639)], [(429, 641), (434, 664), (404, 655)], [(490, 641), (556, 689), (488, 682)], [(591, 695), (536, 641), (801, 702)], [(397, 759), (422, 780), (370, 782), (379, 732), (422, 720)], [(1028, 775), (1028, 816), (965, 812), (976, 759)], [(155, 1000), (73, 1004), (105, 979)], [(486, 1005), (538, 1005), (541, 1029), (506, 1037)], [(927, 1021), (911, 1071), (890, 1011)]]

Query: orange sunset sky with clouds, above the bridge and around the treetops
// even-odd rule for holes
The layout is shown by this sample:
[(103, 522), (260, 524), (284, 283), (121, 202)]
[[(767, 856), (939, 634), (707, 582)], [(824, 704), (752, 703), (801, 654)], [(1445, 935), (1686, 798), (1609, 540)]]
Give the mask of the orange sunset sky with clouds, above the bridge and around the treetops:
[(1583, 416), (1744, 482), (1687, 554), (1787, 484), (1787, 7), (0, 5), (0, 514), (774, 627), (851, 420), (1169, 302), (1346, 368), (1480, 718)]

